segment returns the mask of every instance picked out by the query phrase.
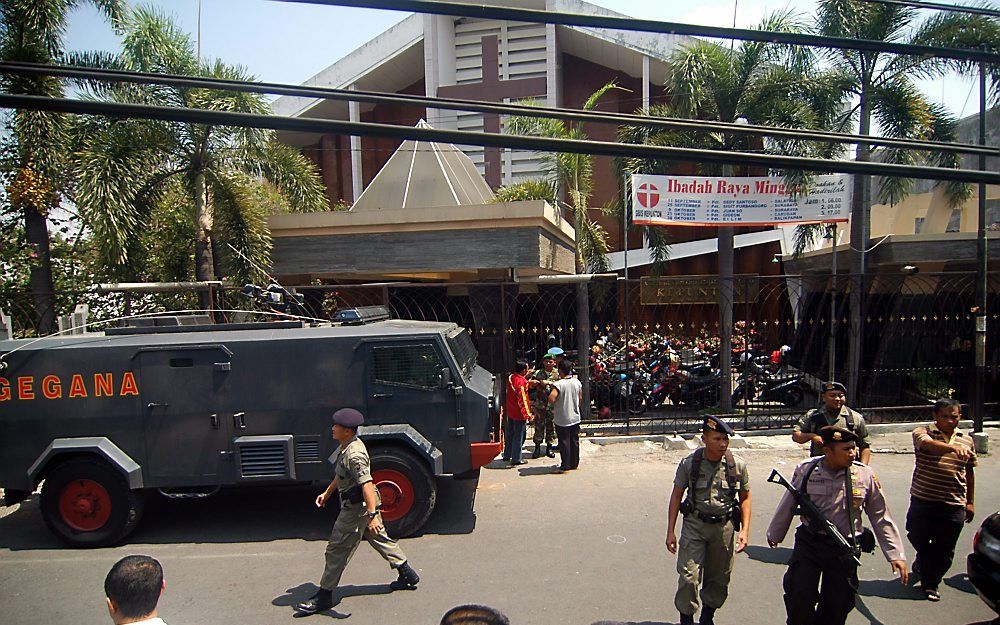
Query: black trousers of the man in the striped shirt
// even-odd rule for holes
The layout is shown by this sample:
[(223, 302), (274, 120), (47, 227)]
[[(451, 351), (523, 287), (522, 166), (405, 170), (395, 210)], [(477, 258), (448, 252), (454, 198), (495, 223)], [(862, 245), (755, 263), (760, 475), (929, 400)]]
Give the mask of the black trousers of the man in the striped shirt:
[(920, 585), (933, 588), (951, 568), (955, 544), (965, 525), (965, 506), (910, 498), (906, 512), (906, 537), (920, 561)]

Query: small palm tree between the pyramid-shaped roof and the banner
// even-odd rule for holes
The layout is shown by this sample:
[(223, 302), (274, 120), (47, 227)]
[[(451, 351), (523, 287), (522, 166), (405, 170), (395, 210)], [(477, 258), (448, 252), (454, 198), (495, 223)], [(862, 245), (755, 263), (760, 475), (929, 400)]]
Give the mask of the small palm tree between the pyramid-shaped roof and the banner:
[[(620, 87), (612, 81), (592, 93), (584, 102), (583, 110), (594, 110), (601, 97), (612, 89), (620, 89)], [(533, 104), (533, 101), (529, 100), (520, 104)], [(583, 132), (582, 124), (559, 119), (514, 116), (507, 120), (505, 129), (511, 134), (537, 137), (578, 140), (587, 138)], [(555, 188), (565, 189), (569, 198), (569, 207), (573, 213), (573, 225), (576, 229), (577, 271), (595, 273), (607, 271), (608, 235), (599, 223), (590, 218), (590, 196), (594, 190), (594, 157), (589, 154), (546, 153), (542, 155), (542, 161), (549, 172), (550, 182)], [(550, 190), (550, 187), (537, 182), (522, 183), (522, 187), (525, 184), (533, 188), (542, 188), (545, 192)], [(505, 191), (505, 194), (520, 197), (524, 195), (524, 190), (523, 188), (508, 190)]]

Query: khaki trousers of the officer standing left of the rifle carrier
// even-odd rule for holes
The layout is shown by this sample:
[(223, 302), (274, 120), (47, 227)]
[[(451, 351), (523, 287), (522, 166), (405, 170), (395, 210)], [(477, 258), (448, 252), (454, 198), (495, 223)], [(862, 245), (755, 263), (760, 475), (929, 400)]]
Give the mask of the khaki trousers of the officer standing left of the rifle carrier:
[(707, 523), (694, 515), (684, 517), (677, 549), (677, 594), (674, 606), (681, 614), (698, 611), (698, 586), (707, 608), (718, 609), (729, 596), (733, 573), (733, 522)]

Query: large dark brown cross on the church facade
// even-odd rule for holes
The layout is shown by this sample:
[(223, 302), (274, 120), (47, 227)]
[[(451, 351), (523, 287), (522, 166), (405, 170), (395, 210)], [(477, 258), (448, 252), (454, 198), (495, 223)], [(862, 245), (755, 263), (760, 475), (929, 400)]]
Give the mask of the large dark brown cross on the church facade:
[[(465, 85), (438, 87), (438, 97), (480, 100), (483, 102), (503, 102), (544, 96), (547, 92), (545, 78), (515, 78), (500, 80), (500, 42), (496, 35), (483, 37), (483, 80)], [(483, 130), (500, 132), (500, 116), (495, 113), (483, 114)], [(500, 167), (500, 148), (486, 148), (486, 182), (496, 189), (503, 180)]]

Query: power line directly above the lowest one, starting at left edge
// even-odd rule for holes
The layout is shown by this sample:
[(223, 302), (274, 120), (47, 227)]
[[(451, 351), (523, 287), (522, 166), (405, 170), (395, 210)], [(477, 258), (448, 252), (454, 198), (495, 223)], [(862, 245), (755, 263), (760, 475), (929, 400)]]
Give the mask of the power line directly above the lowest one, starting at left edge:
[(296, 97), (317, 98), (336, 101), (357, 101), (367, 104), (414, 104), (434, 109), (461, 110), (498, 115), (517, 115), (548, 119), (571, 120), (601, 124), (624, 124), (646, 128), (681, 130), (692, 132), (726, 132), (753, 136), (770, 136), (792, 141), (829, 141), (845, 144), (866, 143), (869, 145), (895, 147), (912, 150), (938, 150), (960, 154), (1000, 155), (1000, 147), (984, 147), (972, 144), (942, 143), (916, 139), (895, 139), (831, 132), (825, 130), (802, 130), (775, 126), (755, 126), (729, 122), (702, 121), (679, 118), (649, 117), (630, 113), (587, 112), (579, 109), (549, 108), (525, 104), (499, 104), (480, 100), (436, 98), (409, 94), (385, 93), (333, 87), (288, 85), (284, 83), (250, 82), (201, 76), (178, 74), (157, 74), (129, 72), (123, 70), (73, 67), (69, 65), (44, 65), (35, 63), (0, 62), (0, 73), (27, 75), (52, 75), (76, 79), (104, 80), (110, 82), (154, 83), (189, 89), (220, 89), (262, 94), (279, 94)]

